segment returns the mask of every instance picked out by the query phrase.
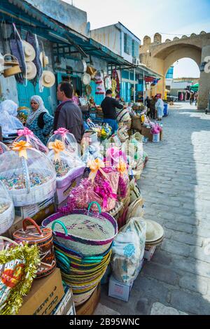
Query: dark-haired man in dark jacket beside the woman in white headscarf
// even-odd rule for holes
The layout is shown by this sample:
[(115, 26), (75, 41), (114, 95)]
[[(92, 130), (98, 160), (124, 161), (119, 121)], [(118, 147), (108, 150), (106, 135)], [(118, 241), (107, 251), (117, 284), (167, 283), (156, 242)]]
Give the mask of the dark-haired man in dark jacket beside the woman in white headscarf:
[(73, 87), (69, 82), (62, 82), (57, 86), (57, 99), (61, 101), (55, 111), (53, 128), (66, 128), (80, 143), (83, 134), (83, 114), (80, 108), (71, 100)]

